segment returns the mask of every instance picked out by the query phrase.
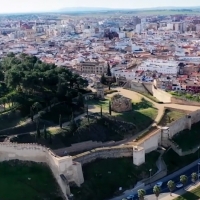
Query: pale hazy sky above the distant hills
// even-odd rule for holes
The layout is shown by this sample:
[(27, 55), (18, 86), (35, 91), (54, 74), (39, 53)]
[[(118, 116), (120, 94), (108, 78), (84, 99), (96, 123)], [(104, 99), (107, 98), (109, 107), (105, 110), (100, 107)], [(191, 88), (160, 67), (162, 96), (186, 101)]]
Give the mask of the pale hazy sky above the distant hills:
[(200, 0), (0, 0), (0, 13), (52, 11), (65, 7), (148, 8), (200, 6)]

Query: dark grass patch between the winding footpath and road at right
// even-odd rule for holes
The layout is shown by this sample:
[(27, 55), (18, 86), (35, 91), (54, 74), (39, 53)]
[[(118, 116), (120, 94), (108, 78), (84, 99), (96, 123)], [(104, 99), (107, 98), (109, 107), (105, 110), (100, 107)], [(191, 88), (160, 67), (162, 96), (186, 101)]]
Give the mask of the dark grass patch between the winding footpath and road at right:
[(163, 159), (167, 165), (168, 174), (171, 174), (198, 159), (198, 153), (179, 156), (172, 149), (164, 153)]

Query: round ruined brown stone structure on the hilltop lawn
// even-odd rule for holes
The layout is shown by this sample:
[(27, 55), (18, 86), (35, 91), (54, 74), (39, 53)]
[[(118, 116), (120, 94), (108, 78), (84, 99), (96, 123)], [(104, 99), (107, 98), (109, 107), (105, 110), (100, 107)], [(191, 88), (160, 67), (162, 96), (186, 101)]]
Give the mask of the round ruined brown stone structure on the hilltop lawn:
[(111, 98), (111, 109), (115, 112), (125, 112), (132, 110), (132, 100), (120, 94)]

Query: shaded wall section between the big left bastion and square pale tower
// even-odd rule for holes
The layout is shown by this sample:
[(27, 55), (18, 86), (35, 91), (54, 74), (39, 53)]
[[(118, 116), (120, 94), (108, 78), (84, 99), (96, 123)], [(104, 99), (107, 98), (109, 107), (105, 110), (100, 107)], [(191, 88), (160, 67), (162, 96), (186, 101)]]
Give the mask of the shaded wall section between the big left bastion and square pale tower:
[(98, 158), (120, 158), (120, 157), (132, 157), (133, 146), (123, 145), (118, 147), (105, 147), (97, 148), (91, 151), (87, 151), (76, 156), (73, 156), (73, 160), (80, 162), (82, 165), (90, 163)]

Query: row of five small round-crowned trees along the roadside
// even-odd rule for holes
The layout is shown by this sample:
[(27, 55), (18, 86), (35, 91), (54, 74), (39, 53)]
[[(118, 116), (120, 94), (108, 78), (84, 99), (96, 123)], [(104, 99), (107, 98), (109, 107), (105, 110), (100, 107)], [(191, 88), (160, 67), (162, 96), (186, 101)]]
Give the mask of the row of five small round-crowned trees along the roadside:
[[(191, 181), (195, 183), (198, 180), (198, 174), (197, 173), (192, 173), (191, 174)], [(188, 177), (186, 175), (181, 175), (180, 176), (180, 182), (185, 186), (187, 184)], [(167, 182), (167, 187), (169, 188), (170, 195), (172, 195), (172, 192), (174, 191), (176, 185), (175, 182), (170, 180)], [(161, 188), (158, 185), (155, 185), (153, 187), (153, 193), (155, 194), (156, 198), (158, 199), (159, 195), (161, 192)], [(140, 200), (144, 200), (144, 197), (146, 195), (146, 191), (144, 189), (139, 189), (138, 190), (138, 197)]]

